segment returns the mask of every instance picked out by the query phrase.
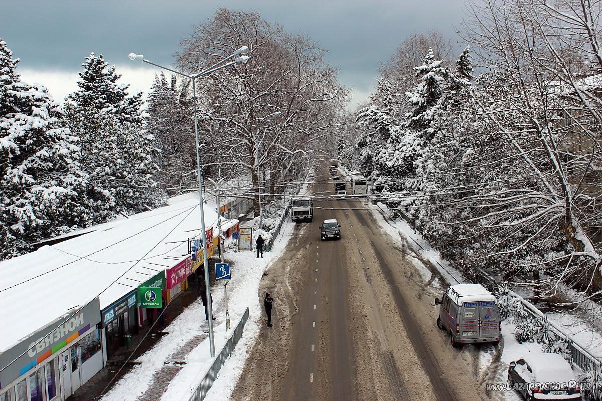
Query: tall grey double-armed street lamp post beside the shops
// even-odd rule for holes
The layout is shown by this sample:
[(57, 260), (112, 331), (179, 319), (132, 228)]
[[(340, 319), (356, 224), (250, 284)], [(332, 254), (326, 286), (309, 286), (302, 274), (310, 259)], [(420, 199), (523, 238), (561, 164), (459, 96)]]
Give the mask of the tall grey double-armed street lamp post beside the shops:
[[(201, 236), (203, 239), (203, 272), (205, 273), (205, 291), (206, 291), (207, 301), (211, 300), (211, 292), (209, 290), (209, 266), (208, 266), (208, 262), (207, 262), (207, 236), (205, 233), (205, 213), (203, 213), (203, 182), (202, 182), (202, 178), (200, 176), (199, 127), (197, 124), (197, 107), (196, 107), (196, 79), (200, 78), (202, 76), (205, 76), (205, 75), (209, 75), (211, 73), (216, 72), (217, 70), (221, 70), (223, 68), (232, 66), (237, 63), (246, 64), (247, 61), (249, 60), (249, 56), (244, 56), (244, 55), (241, 56), (241, 54), (245, 54), (247, 51), (249, 51), (249, 47), (243, 46), (240, 49), (238, 49), (237, 51), (235, 51), (233, 54), (229, 55), (228, 57), (224, 58), (223, 60), (218, 61), (216, 64), (213, 64), (213, 66), (208, 67), (207, 69), (202, 70), (201, 72), (193, 74), (193, 75), (188, 75), (188, 74), (185, 74), (185, 73), (182, 73), (182, 72), (179, 72), (176, 70), (172, 70), (172, 69), (164, 67), (164, 66), (160, 66), (159, 64), (152, 63), (151, 61), (146, 60), (144, 58), (144, 55), (141, 55), (141, 54), (130, 53), (128, 55), (128, 57), (132, 61), (142, 61), (143, 63), (151, 64), (152, 66), (159, 67), (159, 68), (167, 70), (167, 71), (171, 71), (171, 72), (176, 73), (181, 76), (185, 76), (186, 78), (191, 79), (191, 81), (192, 81), (192, 96), (193, 96), (193, 105), (194, 105), (194, 137), (196, 138), (196, 167), (197, 167), (197, 173), (199, 174), (200, 228), (202, 230)], [(234, 61), (230, 61), (229, 63), (222, 64), (225, 61), (231, 60), (232, 58), (234, 58)], [(222, 64), (222, 65), (220, 65), (220, 64)], [(208, 319), (209, 320), (209, 347), (211, 349), (211, 358), (213, 358), (216, 356), (216, 344), (215, 344), (215, 341), (213, 338), (213, 310), (212, 310), (211, 302), (208, 302), (208, 305), (207, 305), (207, 317), (209, 318)]]

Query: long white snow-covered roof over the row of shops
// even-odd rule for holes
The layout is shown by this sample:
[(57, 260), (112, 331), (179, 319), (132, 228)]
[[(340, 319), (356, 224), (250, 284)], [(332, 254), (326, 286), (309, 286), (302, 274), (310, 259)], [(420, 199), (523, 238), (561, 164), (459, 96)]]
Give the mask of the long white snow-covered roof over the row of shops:
[[(0, 335), (0, 352), (73, 307), (100, 295), (105, 308), (176, 265), (188, 253), (188, 238), (200, 234), (194, 195), (0, 262), (0, 321), (18, 322)], [(206, 228), (216, 227), (216, 211), (203, 210)]]

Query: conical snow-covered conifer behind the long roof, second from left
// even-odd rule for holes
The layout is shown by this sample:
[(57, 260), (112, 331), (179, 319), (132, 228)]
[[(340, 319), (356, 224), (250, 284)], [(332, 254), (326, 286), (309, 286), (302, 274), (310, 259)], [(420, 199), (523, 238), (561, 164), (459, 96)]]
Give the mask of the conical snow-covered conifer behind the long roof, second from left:
[(117, 83), (120, 75), (102, 55), (90, 54), (82, 66), (64, 121), (81, 139), (90, 215), (98, 223), (156, 206), (163, 201), (154, 180), (159, 152), (155, 138), (143, 129), (141, 93), (128, 96), (128, 85)]

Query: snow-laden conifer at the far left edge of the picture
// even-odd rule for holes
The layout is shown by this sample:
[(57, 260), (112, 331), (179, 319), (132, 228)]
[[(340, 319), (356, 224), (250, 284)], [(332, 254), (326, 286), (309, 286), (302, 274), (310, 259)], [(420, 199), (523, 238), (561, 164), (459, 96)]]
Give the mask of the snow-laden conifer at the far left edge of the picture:
[(0, 236), (2, 259), (88, 224), (78, 138), (59, 124), (45, 87), (21, 81), (0, 40)]

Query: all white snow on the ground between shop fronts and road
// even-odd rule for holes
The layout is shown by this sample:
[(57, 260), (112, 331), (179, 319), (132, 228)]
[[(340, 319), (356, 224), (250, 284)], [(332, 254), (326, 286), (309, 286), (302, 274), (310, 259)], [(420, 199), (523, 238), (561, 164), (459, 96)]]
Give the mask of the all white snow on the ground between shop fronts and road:
[[(231, 332), (247, 307), (249, 307), (250, 319), (245, 326), (243, 338), (241, 338), (234, 354), (232, 354), (232, 358), (220, 372), (218, 379), (220, 383), (216, 382), (216, 385), (213, 387), (220, 391), (219, 394), (213, 396), (214, 400), (228, 399), (238, 379), (238, 375), (241, 373), (250, 344), (253, 343), (253, 338), (259, 333), (259, 323), (262, 317), (261, 304), (257, 294), (259, 281), (270, 263), (278, 259), (284, 252), (284, 248), (293, 232), (293, 227), (294, 225), (290, 222), (287, 222), (282, 227), (282, 232), (274, 244), (273, 250), (264, 253), (263, 258), (256, 258), (254, 251), (235, 253), (234, 251), (227, 250), (225, 253), (226, 262), (232, 263), (232, 280), (228, 284), (229, 312), (232, 323)], [(214, 316), (217, 317), (217, 320), (214, 322), (217, 355), (226, 342), (224, 338), (226, 323), (223, 287), (221, 285), (214, 286), (211, 293), (213, 296)], [(207, 328), (204, 317), (205, 312), (199, 298), (167, 326), (166, 331), (169, 334), (164, 335), (152, 349), (138, 358), (141, 364), (135, 366), (131, 372), (123, 376), (102, 400), (137, 400), (149, 388), (155, 372), (164, 366), (164, 361), (179, 346), (191, 340), (195, 335), (203, 334), (203, 329), (206, 330)], [(231, 335), (231, 332), (228, 333), (228, 336)], [(205, 340), (199, 343), (188, 354), (186, 361), (187, 364), (183, 366), (183, 369), (170, 382), (169, 387), (163, 394), (162, 400), (188, 399), (205, 375), (205, 372), (213, 364), (213, 359), (209, 357), (209, 338), (205, 338)]]

